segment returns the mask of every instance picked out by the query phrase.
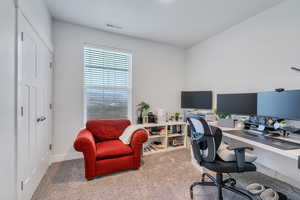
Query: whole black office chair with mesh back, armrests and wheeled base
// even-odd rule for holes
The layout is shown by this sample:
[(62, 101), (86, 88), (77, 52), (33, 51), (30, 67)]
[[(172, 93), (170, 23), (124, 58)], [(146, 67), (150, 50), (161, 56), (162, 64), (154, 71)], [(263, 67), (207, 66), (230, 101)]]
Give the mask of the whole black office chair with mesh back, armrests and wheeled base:
[[(193, 199), (193, 188), (200, 186), (216, 186), (218, 188), (218, 200), (223, 200), (222, 189), (230, 190), (247, 199), (253, 200), (249, 192), (235, 187), (236, 181), (233, 178), (223, 180), (224, 173), (242, 173), (256, 171), (256, 166), (245, 162), (245, 150), (253, 150), (252, 147), (229, 147), (235, 151), (236, 161), (223, 161), (217, 154), (217, 150), (222, 142), (222, 130), (217, 127), (210, 127), (203, 119), (187, 119), (190, 124), (192, 149), (198, 164), (217, 173), (216, 178), (210, 174), (203, 173), (202, 181), (195, 182), (190, 187), (191, 199)], [(208, 177), (211, 182), (205, 182)]]

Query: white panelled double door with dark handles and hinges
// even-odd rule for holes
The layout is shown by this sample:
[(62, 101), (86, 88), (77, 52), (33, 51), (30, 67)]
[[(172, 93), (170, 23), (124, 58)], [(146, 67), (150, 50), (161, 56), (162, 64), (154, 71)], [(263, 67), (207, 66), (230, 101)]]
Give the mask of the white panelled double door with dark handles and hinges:
[(51, 56), (23, 16), (18, 17), (18, 199), (29, 200), (49, 165)]

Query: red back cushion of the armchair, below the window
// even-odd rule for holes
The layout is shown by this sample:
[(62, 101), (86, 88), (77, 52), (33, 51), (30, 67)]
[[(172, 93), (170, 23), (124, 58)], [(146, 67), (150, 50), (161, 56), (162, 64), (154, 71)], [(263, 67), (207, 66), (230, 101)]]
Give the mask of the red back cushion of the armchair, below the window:
[(100, 141), (118, 139), (123, 131), (130, 125), (127, 119), (90, 120), (86, 128)]

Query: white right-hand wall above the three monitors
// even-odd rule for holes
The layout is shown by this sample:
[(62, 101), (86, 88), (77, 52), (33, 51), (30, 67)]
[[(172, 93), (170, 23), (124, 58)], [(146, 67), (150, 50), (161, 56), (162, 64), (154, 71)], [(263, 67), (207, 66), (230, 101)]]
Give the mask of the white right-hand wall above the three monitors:
[(187, 51), (185, 89), (299, 89), (300, 1), (289, 0)]

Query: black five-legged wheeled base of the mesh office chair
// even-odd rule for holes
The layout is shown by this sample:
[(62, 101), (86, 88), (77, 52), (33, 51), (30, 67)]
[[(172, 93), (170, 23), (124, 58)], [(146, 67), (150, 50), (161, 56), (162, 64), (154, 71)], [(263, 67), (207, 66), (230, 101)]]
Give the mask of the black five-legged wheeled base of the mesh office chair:
[[(210, 182), (205, 181), (205, 177), (208, 177), (211, 181)], [(247, 193), (247, 191), (243, 191), (242, 189), (235, 187), (236, 181), (233, 178), (228, 178), (228, 179), (223, 180), (223, 175), (219, 174), (219, 173), (217, 174), (216, 178), (207, 173), (202, 174), (201, 182), (195, 182), (190, 186), (191, 199), (194, 199), (193, 188), (196, 185), (217, 187), (218, 188), (218, 200), (223, 200), (222, 189), (226, 189), (233, 193), (244, 196), (249, 200), (255, 200), (255, 197), (253, 197), (250, 193)]]

